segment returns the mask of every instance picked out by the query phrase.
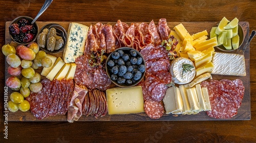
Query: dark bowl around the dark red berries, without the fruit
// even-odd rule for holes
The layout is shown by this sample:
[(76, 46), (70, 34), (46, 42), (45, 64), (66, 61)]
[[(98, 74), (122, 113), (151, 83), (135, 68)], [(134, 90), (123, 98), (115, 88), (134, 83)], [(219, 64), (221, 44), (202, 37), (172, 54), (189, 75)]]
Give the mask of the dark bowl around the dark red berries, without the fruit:
[[(11, 25), (12, 25), (13, 23), (18, 23), (18, 21), (19, 21), (20, 19), (23, 19), (23, 18), (27, 19), (30, 23), (34, 20), (33, 18), (31, 18), (31, 17), (29, 17), (29, 16), (19, 16), (19, 17), (13, 19), (13, 21), (11, 22)], [(10, 26), (11, 26), (11, 25), (10, 25)], [(33, 23), (33, 26), (34, 26), (35, 29), (36, 29), (36, 33), (34, 34), (34, 37), (33, 37), (32, 41), (30, 41), (30, 42), (28, 42), (28, 43), (20, 43), (19, 41), (16, 41), (16, 40), (13, 38), (13, 35), (12, 35), (12, 34), (10, 34), (12, 40), (13, 40), (15, 43), (21, 44), (21, 45), (27, 45), (27, 44), (29, 44), (29, 43), (31, 43), (31, 42), (34, 42), (35, 39), (37, 38), (38, 33), (39, 33), (39, 27), (38, 27), (38, 25), (37, 25), (36, 22)], [(10, 32), (9, 32), (9, 33), (10, 33)]]

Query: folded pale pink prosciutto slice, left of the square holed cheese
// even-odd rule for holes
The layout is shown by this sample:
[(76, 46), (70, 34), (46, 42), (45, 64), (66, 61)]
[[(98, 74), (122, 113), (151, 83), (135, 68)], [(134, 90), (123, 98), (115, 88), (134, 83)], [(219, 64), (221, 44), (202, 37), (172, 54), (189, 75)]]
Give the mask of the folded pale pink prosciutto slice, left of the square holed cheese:
[(88, 89), (85, 86), (75, 84), (73, 95), (68, 109), (68, 122), (73, 123), (78, 121), (82, 115), (82, 103)]

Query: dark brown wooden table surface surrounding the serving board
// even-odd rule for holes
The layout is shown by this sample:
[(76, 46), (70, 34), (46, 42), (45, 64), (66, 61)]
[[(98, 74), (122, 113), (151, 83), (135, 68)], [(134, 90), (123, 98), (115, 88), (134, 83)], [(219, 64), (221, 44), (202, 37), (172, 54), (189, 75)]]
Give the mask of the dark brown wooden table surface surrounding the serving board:
[[(35, 17), (44, 1), (0, 1), (0, 46), (5, 22)], [(256, 30), (256, 1), (53, 1), (38, 21), (220, 21), (238, 17)], [(8, 122), (0, 96), (0, 142), (256, 142), (256, 40), (250, 43), (250, 121)], [(5, 56), (0, 54), (0, 94), (4, 94)], [(8, 126), (8, 139), (4, 138)]]

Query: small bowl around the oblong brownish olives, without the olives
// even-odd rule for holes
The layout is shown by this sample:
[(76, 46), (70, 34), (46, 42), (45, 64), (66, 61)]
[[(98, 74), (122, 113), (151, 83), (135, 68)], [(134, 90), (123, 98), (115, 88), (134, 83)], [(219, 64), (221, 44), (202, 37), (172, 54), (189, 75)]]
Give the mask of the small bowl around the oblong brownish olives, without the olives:
[(45, 51), (48, 54), (55, 54), (55, 53), (60, 52), (66, 46), (66, 43), (67, 43), (67, 31), (62, 26), (60, 26), (60, 25), (58, 25), (56, 23), (50, 23), (50, 24), (45, 25), (44, 27), (42, 27), (41, 30), (39, 31), (39, 33), (41, 33), (44, 29), (51, 29), (51, 28), (55, 28), (56, 29), (56, 34), (58, 36), (62, 37), (62, 39), (64, 41), (63, 46), (59, 50), (54, 50), (54, 51), (49, 51), (49, 50), (47, 50), (46, 47), (40, 47), (40, 49), (42, 51)]

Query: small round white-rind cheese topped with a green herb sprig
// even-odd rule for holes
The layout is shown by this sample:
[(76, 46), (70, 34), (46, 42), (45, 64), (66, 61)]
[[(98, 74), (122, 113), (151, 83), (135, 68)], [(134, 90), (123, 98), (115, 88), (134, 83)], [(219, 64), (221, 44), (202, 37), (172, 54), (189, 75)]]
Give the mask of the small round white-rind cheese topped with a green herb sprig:
[(170, 74), (172, 74), (174, 83), (176, 84), (186, 84), (191, 82), (196, 75), (196, 68), (191, 69), (191, 71), (184, 72), (182, 75), (183, 67), (182, 64), (190, 64), (194, 66), (194, 63), (187, 58), (177, 58), (172, 61), (170, 67)]

